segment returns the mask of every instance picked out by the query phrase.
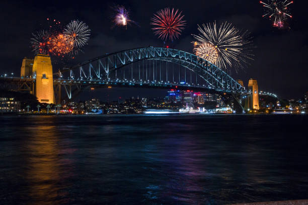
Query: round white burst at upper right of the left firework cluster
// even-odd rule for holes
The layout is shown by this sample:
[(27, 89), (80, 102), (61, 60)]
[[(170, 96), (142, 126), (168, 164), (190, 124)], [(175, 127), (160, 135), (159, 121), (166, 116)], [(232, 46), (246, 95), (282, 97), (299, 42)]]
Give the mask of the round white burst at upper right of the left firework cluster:
[(82, 21), (73, 20), (64, 29), (64, 35), (67, 39), (73, 41), (75, 48), (81, 48), (85, 46), (90, 39), (91, 30)]

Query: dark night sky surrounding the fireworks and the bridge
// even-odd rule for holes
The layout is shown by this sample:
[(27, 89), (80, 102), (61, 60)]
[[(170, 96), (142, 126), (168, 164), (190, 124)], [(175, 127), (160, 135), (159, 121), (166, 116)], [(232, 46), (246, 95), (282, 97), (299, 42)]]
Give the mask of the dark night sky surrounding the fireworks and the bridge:
[[(124, 28), (112, 28), (111, 16), (114, 5), (123, 5), (131, 11), (130, 18), (135, 25)], [(161, 47), (162, 40), (153, 35), (149, 25), (153, 13), (165, 7), (183, 11), (187, 26), (174, 48), (192, 52), (193, 37), (197, 33), (197, 24), (227, 21), (242, 30), (249, 30), (253, 37), (254, 61), (238, 73), (232, 72), (235, 79), (258, 80), (259, 89), (277, 93), (282, 98), (299, 98), (308, 91), (307, 83), (307, 7), (306, 1), (296, 1), (290, 6), (293, 19), (287, 29), (272, 27), (271, 21), (263, 19), (263, 8), (257, 0), (243, 1), (5, 1), (1, 4), (1, 74), (14, 72), (18, 76), (22, 59), (32, 57), (30, 38), (33, 32), (47, 25), (47, 18), (57, 19), (66, 25), (73, 19), (87, 23), (91, 31), (89, 45), (84, 53), (76, 56), (71, 64), (78, 64), (105, 53), (124, 49)], [(65, 62), (67, 63), (67, 62)], [(61, 62), (53, 63), (53, 69), (63, 67)], [(162, 90), (146, 89), (102, 89), (96, 95), (105, 99), (108, 94), (115, 95), (159, 95)], [(108, 92), (108, 94), (106, 94)], [(126, 95), (125, 95), (126, 93)]]

